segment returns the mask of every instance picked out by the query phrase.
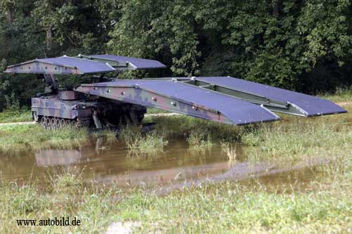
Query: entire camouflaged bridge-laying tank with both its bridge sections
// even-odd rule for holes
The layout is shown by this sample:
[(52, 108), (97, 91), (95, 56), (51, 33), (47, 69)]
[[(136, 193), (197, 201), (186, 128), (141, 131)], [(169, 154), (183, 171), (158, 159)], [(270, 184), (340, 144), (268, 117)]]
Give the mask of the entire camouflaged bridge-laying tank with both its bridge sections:
[[(105, 77), (110, 72), (163, 67), (142, 58), (79, 55), (35, 59), (8, 66), (5, 72), (43, 76), (46, 89), (32, 98), (32, 115), (49, 129), (67, 124), (97, 129), (139, 124), (146, 107), (232, 125), (278, 120), (274, 112), (302, 117), (346, 112), (329, 100), (233, 77)], [(101, 82), (61, 91), (55, 74), (100, 74)]]

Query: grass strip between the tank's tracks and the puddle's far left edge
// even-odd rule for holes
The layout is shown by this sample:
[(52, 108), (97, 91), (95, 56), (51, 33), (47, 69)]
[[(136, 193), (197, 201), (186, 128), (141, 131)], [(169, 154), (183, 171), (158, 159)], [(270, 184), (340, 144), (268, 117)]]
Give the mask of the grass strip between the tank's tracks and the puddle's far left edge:
[(87, 129), (47, 130), (39, 124), (0, 127), (0, 151), (21, 152), (42, 148), (73, 148), (88, 139)]

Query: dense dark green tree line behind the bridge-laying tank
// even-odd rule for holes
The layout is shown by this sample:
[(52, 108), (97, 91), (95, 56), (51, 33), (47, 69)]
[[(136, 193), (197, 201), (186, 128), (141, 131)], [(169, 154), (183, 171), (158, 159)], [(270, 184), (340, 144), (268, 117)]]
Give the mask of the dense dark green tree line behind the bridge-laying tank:
[[(156, 75), (230, 75), (306, 93), (351, 84), (351, 0), (0, 0), (0, 70), (33, 58), (114, 53)], [(71, 81), (72, 82), (72, 81)], [(41, 91), (0, 73), (0, 110)]]

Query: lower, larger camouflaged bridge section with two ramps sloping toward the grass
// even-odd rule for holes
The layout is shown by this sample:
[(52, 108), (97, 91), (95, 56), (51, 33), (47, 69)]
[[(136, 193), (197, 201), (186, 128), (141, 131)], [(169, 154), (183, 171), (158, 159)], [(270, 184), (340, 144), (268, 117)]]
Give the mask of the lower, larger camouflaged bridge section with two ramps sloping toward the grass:
[(233, 77), (170, 77), (82, 84), (76, 91), (232, 125), (270, 122), (273, 112), (344, 113), (329, 100)]

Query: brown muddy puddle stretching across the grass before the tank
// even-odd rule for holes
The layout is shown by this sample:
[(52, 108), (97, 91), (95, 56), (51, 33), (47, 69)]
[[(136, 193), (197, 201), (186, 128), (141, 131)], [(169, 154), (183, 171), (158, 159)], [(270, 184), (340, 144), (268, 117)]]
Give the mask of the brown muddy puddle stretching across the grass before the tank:
[[(237, 160), (229, 160), (220, 145), (196, 152), (185, 141), (169, 141), (158, 155), (133, 155), (123, 143), (104, 145), (101, 139), (68, 150), (39, 150), (18, 155), (0, 154), (0, 176), (6, 181), (42, 180), (63, 171), (82, 173), (84, 181), (115, 183), (123, 188), (134, 186), (163, 186), (170, 189), (191, 186), (207, 181), (246, 180), (257, 177), (265, 183), (287, 180), (307, 180), (313, 177), (291, 171), (301, 169), (277, 168), (271, 164), (249, 164), (241, 147), (236, 148)], [(319, 164), (319, 163), (318, 163)], [(303, 177), (302, 177), (303, 175)], [(39, 180), (38, 180), (39, 179)], [(44, 183), (44, 182), (43, 182)], [(170, 186), (171, 185), (171, 186)]]

